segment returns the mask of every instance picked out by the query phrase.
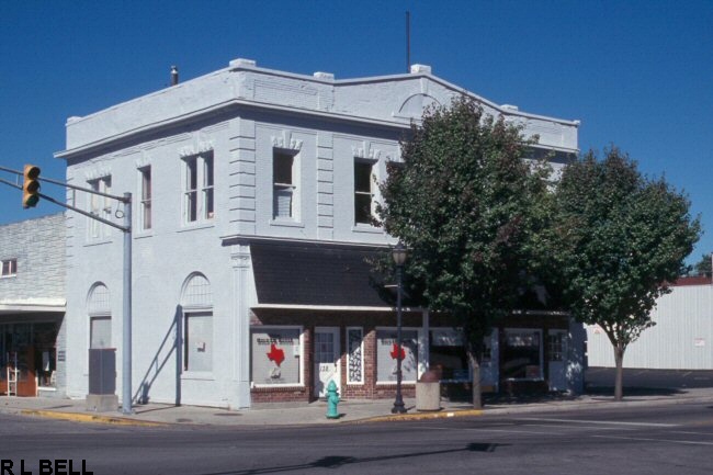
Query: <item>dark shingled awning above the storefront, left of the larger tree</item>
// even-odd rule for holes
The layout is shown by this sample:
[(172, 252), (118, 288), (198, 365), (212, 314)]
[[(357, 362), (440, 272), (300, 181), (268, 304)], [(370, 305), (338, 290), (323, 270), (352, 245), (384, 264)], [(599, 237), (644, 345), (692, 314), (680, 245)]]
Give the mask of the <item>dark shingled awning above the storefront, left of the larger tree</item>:
[(383, 249), (297, 242), (251, 242), (258, 303), (387, 307), (367, 259)]

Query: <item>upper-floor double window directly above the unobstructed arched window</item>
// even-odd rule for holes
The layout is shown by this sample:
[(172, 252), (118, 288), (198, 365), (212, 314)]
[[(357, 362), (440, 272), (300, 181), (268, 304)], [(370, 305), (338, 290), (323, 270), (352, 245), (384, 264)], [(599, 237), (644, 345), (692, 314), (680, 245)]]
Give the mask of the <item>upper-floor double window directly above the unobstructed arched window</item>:
[(214, 215), (213, 152), (188, 157), (184, 162), (184, 222), (212, 219)]

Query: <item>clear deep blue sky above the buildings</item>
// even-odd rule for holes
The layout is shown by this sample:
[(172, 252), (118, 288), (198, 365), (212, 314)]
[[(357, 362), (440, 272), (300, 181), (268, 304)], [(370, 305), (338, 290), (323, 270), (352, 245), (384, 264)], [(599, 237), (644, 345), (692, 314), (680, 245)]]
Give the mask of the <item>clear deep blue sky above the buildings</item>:
[[(61, 179), (65, 121), (234, 58), (338, 79), (411, 63), (496, 103), (580, 120), (581, 150), (615, 144), (692, 202), (713, 251), (713, 1), (0, 1), (0, 165)], [(0, 172), (0, 177), (11, 176)], [(45, 184), (56, 197), (61, 189)], [(0, 224), (23, 211), (0, 184)]]

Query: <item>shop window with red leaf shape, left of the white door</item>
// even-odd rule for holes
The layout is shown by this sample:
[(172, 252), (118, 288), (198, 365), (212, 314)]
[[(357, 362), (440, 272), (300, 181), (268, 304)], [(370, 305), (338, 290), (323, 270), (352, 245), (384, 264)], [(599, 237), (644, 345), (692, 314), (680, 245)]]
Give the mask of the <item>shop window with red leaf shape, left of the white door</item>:
[(298, 328), (252, 328), (250, 335), (254, 384), (299, 384)]

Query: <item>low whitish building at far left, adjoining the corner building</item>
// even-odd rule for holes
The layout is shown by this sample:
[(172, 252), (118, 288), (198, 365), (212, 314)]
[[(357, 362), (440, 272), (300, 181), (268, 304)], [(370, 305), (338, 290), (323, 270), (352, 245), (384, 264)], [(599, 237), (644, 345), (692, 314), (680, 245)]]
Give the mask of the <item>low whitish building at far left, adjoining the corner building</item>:
[(65, 216), (0, 226), (0, 394), (63, 397)]

